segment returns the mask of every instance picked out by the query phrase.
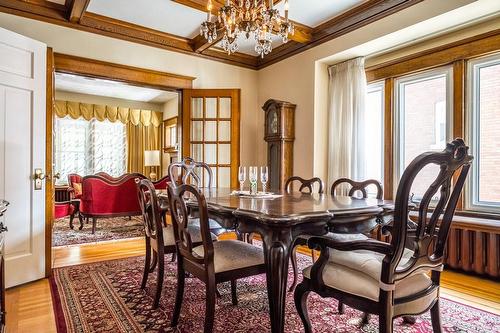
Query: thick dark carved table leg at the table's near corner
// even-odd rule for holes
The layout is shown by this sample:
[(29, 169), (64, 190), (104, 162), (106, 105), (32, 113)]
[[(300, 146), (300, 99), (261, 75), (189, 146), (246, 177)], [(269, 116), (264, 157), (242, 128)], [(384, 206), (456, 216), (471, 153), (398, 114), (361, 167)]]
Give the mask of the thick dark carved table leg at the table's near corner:
[(263, 235), (271, 332), (283, 333), (292, 236), (289, 230), (273, 230)]

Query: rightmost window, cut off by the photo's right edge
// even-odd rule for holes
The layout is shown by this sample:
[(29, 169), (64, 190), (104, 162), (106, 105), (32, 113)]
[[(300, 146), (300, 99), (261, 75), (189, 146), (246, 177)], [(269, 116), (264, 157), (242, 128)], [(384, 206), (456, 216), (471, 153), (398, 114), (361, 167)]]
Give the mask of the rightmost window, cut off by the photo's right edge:
[(467, 139), (474, 156), (466, 207), (500, 212), (500, 55), (469, 64)]

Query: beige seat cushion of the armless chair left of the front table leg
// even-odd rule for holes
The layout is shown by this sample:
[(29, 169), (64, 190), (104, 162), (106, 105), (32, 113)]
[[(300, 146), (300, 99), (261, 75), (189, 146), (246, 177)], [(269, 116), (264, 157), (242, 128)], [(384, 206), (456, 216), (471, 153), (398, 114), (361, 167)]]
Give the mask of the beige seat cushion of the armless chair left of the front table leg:
[[(203, 257), (203, 246), (195, 247), (193, 253)], [(238, 240), (222, 240), (214, 243), (215, 273), (262, 264), (264, 264), (264, 252), (260, 247)]]

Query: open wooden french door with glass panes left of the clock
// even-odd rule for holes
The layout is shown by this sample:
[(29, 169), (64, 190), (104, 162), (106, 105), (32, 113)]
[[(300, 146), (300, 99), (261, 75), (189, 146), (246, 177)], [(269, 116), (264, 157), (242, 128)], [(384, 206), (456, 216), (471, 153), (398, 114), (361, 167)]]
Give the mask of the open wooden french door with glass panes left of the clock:
[[(183, 91), (182, 156), (207, 163), (213, 187), (238, 186), (240, 163), (240, 90)], [(201, 175), (205, 186), (206, 174)]]

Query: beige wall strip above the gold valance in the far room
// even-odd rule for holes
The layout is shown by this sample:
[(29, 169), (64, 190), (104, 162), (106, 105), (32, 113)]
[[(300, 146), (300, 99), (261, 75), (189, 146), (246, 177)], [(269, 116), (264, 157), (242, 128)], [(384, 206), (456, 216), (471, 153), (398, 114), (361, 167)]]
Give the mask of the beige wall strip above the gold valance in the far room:
[(56, 90), (55, 98), (56, 100), (62, 100), (62, 101), (72, 101), (72, 102), (109, 105), (109, 106), (121, 106), (126, 108), (144, 109), (151, 111), (162, 111), (163, 107), (162, 104), (158, 103), (131, 101), (122, 98), (79, 94), (79, 93), (60, 91), (60, 90)]

